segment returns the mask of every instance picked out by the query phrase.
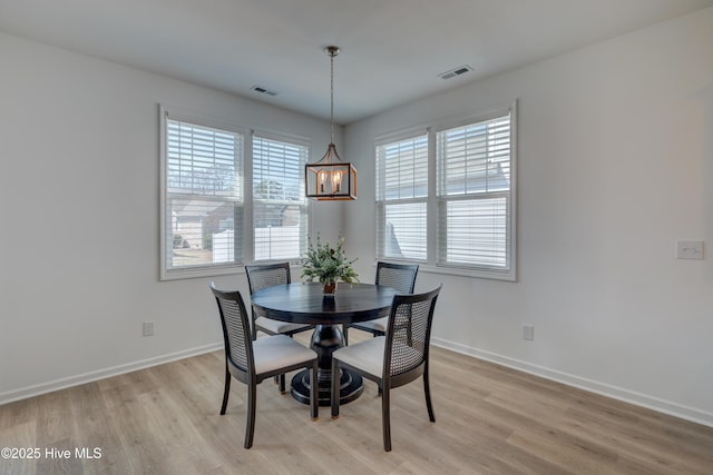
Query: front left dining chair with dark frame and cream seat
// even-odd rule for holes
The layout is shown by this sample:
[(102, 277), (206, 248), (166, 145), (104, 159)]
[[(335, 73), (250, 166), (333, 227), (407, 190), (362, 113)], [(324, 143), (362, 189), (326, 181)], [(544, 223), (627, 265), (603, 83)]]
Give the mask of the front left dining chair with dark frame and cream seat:
[[(284, 376), (285, 373), (307, 368), (311, 380), (318, 380), (318, 355), (286, 335), (273, 335), (253, 340), (245, 303), (237, 290), (224, 291), (211, 283), (223, 327), (225, 344), (225, 389), (221, 415), (225, 414), (231, 393), (231, 380), (235, 378), (247, 385), (247, 419), (245, 422), (245, 448), (253, 446), (255, 434), (255, 404), (257, 385), (266, 378)], [(310, 388), (310, 415), (319, 415), (318, 385)]]

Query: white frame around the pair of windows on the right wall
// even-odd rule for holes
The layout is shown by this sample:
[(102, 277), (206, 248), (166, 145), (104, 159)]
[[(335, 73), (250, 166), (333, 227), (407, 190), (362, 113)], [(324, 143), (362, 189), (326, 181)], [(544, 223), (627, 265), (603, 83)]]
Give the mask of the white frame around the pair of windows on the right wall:
[[(505, 269), (489, 268), (481, 266), (468, 266), (468, 265), (455, 265), (440, 261), (439, 253), (442, 247), (440, 246), (440, 222), (442, 222), (441, 209), (442, 202), (446, 200), (439, 196), (438, 179), (440, 174), (440, 162), (438, 161), (438, 142), (437, 137), (440, 131), (449, 130), (452, 128), (463, 127), (468, 125), (475, 125), (478, 122), (487, 121), (494, 118), (504, 117), (510, 115), (510, 186), (508, 191), (499, 191), (500, 195), (507, 194), (509, 196), (509, 209), (507, 214), (507, 243), (506, 253), (508, 259), (508, 266)], [(427, 206), (427, 247), (428, 254), (426, 261), (408, 258), (393, 258), (384, 256), (381, 253), (380, 243), (380, 228), (379, 219), (379, 190), (375, 190), (375, 204), (374, 204), (374, 255), (377, 259), (389, 259), (404, 263), (416, 263), (421, 266), (421, 269), (434, 274), (448, 274), (466, 277), (487, 278), (495, 280), (517, 281), (517, 100), (514, 100), (508, 106), (497, 107), (487, 111), (477, 112), (468, 116), (450, 117), (446, 119), (433, 120), (431, 122), (421, 125), (419, 127), (412, 127), (403, 129), (397, 132), (384, 133), (378, 136), (374, 140), (374, 177), (379, 184), (382, 177), (379, 176), (380, 169), (378, 166), (377, 147), (389, 144), (398, 142), (402, 139), (408, 139), (423, 130), (428, 135), (428, 169), (429, 169), (429, 192), (428, 192), (428, 206)], [(462, 199), (462, 197), (452, 198)]]

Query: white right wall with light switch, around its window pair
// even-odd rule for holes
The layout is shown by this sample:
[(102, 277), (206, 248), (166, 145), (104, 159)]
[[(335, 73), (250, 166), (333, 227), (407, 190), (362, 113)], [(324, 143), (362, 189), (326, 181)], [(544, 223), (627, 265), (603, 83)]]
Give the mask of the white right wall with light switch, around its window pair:
[(434, 343), (713, 425), (712, 47), (707, 9), (349, 126), (346, 235), (372, 228), (375, 136), (517, 99), (518, 281), (422, 268)]

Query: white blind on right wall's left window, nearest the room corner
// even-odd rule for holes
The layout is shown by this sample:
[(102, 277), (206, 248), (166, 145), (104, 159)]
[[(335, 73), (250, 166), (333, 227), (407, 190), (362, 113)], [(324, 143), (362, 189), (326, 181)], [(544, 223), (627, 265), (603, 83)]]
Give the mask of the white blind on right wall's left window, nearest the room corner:
[(428, 258), (428, 135), (377, 145), (377, 255)]

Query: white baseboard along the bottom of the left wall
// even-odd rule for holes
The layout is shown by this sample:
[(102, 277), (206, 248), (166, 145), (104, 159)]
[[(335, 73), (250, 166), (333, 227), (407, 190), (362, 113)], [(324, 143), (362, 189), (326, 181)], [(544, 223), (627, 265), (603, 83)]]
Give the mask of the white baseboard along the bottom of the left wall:
[(131, 362), (124, 365), (113, 366), (110, 368), (99, 369), (96, 372), (89, 372), (80, 375), (69, 376), (66, 378), (55, 379), (48, 383), (28, 386), (7, 393), (1, 393), (0, 405), (12, 403), (13, 400), (27, 399), (28, 397), (39, 396), (41, 394), (52, 393), (55, 390), (65, 389), (71, 386), (78, 386), (80, 384), (91, 383), (111, 376), (123, 375), (125, 373), (131, 373), (152, 366), (163, 365), (164, 363), (175, 362), (177, 359), (188, 358), (191, 356), (202, 355), (204, 353), (211, 353), (218, 349), (223, 349), (223, 342), (185, 349), (182, 352), (169, 353), (167, 355), (156, 356), (154, 358)]

